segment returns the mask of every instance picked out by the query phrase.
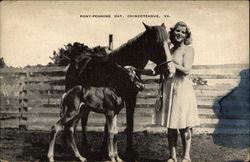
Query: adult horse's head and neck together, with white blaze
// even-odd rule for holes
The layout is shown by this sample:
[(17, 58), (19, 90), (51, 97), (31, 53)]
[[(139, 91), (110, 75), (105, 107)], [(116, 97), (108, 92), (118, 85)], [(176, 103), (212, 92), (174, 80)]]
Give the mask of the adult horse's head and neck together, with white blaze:
[[(144, 24), (144, 23), (143, 23)], [(109, 54), (109, 60), (119, 65), (143, 69), (149, 60), (157, 65), (172, 60), (168, 44), (168, 32), (164, 24), (149, 26), (146, 31), (122, 44)], [(169, 65), (167, 65), (168, 68)]]

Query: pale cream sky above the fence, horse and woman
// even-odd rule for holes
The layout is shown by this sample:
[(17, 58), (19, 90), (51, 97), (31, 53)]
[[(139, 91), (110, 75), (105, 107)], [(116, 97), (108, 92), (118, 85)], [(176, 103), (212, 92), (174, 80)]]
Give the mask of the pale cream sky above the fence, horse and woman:
[[(68, 43), (108, 46), (109, 34), (115, 49), (145, 31), (142, 22), (164, 23), (169, 30), (177, 21), (191, 29), (194, 65), (249, 63), (247, 1), (8, 1), (0, 5), (0, 55), (8, 66), (46, 65), (53, 51)], [(143, 14), (158, 17), (128, 17)]]

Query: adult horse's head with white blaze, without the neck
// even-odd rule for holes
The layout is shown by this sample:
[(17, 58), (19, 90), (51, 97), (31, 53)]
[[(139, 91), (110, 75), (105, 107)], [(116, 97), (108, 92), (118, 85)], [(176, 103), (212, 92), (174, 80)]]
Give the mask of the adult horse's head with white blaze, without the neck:
[(169, 65), (172, 61), (172, 56), (169, 50), (169, 35), (165, 24), (160, 26), (149, 26), (143, 23), (146, 28), (144, 37), (147, 42), (145, 51), (148, 51), (148, 59), (156, 63), (156, 65), (165, 65), (172, 73), (173, 66)]

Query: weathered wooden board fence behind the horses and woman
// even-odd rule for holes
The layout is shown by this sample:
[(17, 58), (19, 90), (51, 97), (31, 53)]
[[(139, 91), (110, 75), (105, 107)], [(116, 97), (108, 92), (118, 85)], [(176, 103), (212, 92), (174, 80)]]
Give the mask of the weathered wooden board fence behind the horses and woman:
[[(193, 66), (191, 78), (201, 119), (194, 133), (249, 133), (248, 68), (245, 64)], [(1, 128), (50, 130), (59, 119), (65, 71), (66, 67), (0, 69)], [(158, 79), (143, 76), (146, 88), (137, 97), (135, 131), (166, 131), (154, 123)], [(123, 109), (118, 117), (120, 130), (126, 126), (125, 113)], [(90, 113), (88, 130), (103, 131), (104, 121), (102, 114)]]

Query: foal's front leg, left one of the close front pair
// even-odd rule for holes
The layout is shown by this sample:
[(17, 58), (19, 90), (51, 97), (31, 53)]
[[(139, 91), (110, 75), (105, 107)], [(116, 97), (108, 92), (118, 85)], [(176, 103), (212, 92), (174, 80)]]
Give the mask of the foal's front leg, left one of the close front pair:
[(115, 160), (115, 155), (114, 155), (114, 126), (113, 126), (113, 120), (114, 120), (114, 111), (107, 110), (106, 112), (106, 124), (107, 124), (107, 130), (108, 130), (108, 140), (107, 140), (107, 145), (108, 145), (108, 156), (112, 162), (116, 161)]

